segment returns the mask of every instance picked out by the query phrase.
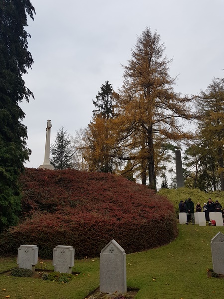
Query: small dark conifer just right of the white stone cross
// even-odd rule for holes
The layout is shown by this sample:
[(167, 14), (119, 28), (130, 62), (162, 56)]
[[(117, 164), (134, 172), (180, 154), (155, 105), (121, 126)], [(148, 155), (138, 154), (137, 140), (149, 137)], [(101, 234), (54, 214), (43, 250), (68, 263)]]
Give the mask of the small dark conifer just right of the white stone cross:
[(52, 158), (50, 159), (50, 163), (55, 169), (62, 170), (73, 167), (72, 158), (74, 152), (71, 143), (70, 135), (61, 127), (57, 131), (54, 144), (51, 146)]

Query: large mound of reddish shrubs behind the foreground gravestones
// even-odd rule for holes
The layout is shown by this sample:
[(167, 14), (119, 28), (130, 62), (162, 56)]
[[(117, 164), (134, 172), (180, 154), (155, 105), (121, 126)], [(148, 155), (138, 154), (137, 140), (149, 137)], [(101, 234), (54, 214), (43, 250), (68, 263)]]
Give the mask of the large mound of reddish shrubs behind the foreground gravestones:
[(56, 245), (72, 245), (76, 258), (96, 257), (112, 239), (131, 253), (177, 236), (172, 204), (120, 176), (26, 169), (21, 183), (21, 223), (1, 234), (2, 254), (36, 244), (42, 258), (52, 258)]

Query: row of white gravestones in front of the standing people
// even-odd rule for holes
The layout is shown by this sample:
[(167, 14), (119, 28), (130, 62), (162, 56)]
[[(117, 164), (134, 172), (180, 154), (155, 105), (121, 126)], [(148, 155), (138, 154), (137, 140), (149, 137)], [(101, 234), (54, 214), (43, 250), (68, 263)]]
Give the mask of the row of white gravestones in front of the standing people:
[[(199, 226), (206, 226), (206, 219), (204, 212), (197, 212), (195, 214), (195, 224)], [(210, 212), (209, 218), (216, 221), (216, 226), (223, 226), (223, 216), (220, 212)], [(187, 213), (179, 213), (179, 223), (185, 224), (187, 221)]]

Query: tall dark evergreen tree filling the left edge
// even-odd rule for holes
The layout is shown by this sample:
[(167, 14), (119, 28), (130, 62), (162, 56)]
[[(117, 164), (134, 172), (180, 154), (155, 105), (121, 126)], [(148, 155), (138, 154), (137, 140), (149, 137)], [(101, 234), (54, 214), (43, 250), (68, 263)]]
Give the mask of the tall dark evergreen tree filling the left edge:
[(29, 0), (0, 0), (0, 230), (18, 221), (18, 178), (31, 153), (19, 103), (33, 97), (23, 74), (33, 63), (24, 27), (27, 15), (33, 19), (34, 13)]

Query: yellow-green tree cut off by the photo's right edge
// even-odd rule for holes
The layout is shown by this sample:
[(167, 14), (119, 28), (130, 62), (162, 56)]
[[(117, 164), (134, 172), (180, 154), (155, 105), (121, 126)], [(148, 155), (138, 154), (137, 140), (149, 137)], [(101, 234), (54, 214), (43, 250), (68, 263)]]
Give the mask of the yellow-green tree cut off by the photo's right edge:
[(195, 171), (188, 176), (201, 190), (224, 191), (224, 78), (214, 78), (195, 102), (197, 140), (186, 151), (186, 166), (194, 166)]

